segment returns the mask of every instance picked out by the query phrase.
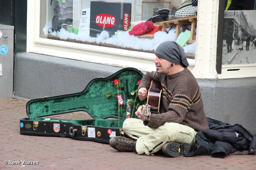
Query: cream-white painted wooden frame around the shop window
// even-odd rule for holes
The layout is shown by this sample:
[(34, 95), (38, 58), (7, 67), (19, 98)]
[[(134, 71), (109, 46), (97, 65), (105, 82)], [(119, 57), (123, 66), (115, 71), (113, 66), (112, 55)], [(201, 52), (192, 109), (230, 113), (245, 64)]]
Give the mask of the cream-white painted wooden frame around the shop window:
[[(217, 74), (218, 4), (219, 0), (200, 0), (198, 3), (196, 59), (188, 59), (188, 68), (199, 78), (255, 77), (256, 64), (222, 65), (222, 74)], [(152, 53), (44, 39), (39, 37), (39, 29), (40, 0), (28, 0), (27, 52), (111, 66), (134, 67), (142, 71), (155, 70), (155, 55)], [(227, 71), (236, 68), (240, 70)]]

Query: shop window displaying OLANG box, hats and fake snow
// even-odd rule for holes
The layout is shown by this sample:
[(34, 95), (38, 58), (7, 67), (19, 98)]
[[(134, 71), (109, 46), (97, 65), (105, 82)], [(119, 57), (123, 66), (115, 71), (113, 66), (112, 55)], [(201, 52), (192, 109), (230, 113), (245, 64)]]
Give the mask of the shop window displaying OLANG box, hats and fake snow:
[[(40, 38), (154, 53), (163, 41), (176, 41), (176, 25), (167, 25), (162, 31), (159, 23), (175, 19), (174, 12), (181, 4), (182, 0), (41, 0)], [(145, 23), (145, 29), (147, 20), (166, 9), (165, 18), (151, 20), (151, 33), (129, 34), (138, 23)], [(181, 25), (182, 30), (191, 30), (191, 25)], [(195, 42), (185, 43), (184, 49), (188, 58), (194, 59)]]

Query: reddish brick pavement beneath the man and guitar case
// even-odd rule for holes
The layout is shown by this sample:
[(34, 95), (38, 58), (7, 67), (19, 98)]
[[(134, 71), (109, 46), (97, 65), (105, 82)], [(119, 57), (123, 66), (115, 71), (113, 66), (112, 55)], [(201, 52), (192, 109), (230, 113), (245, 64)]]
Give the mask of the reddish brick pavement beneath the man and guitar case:
[[(27, 117), (26, 101), (0, 99), (0, 170), (64, 169), (64, 170), (256, 170), (256, 155), (229, 155), (225, 158), (194, 156), (169, 158), (161, 153), (142, 156), (118, 152), (109, 145), (77, 141), (65, 137), (20, 135), (20, 119)], [(59, 119), (89, 119), (83, 112), (56, 115)], [(39, 164), (4, 164), (4, 160), (38, 161)]]

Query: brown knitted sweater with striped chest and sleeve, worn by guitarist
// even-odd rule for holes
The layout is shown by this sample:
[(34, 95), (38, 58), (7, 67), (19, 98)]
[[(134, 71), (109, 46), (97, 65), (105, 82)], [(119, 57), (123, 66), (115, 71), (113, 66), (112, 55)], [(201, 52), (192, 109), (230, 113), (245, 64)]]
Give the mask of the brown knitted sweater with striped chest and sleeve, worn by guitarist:
[(147, 72), (140, 87), (150, 88), (151, 80), (161, 82), (162, 110), (161, 114), (151, 114), (148, 126), (159, 127), (166, 122), (175, 122), (196, 131), (209, 129), (198, 82), (188, 68), (172, 75)]

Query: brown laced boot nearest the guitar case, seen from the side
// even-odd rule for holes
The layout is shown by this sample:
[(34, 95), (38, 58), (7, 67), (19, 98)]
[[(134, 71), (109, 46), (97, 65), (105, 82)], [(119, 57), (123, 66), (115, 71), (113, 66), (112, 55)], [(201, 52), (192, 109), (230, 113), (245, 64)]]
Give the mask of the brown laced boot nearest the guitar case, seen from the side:
[(136, 151), (136, 140), (126, 137), (112, 137), (109, 140), (110, 147), (120, 152), (134, 152)]

